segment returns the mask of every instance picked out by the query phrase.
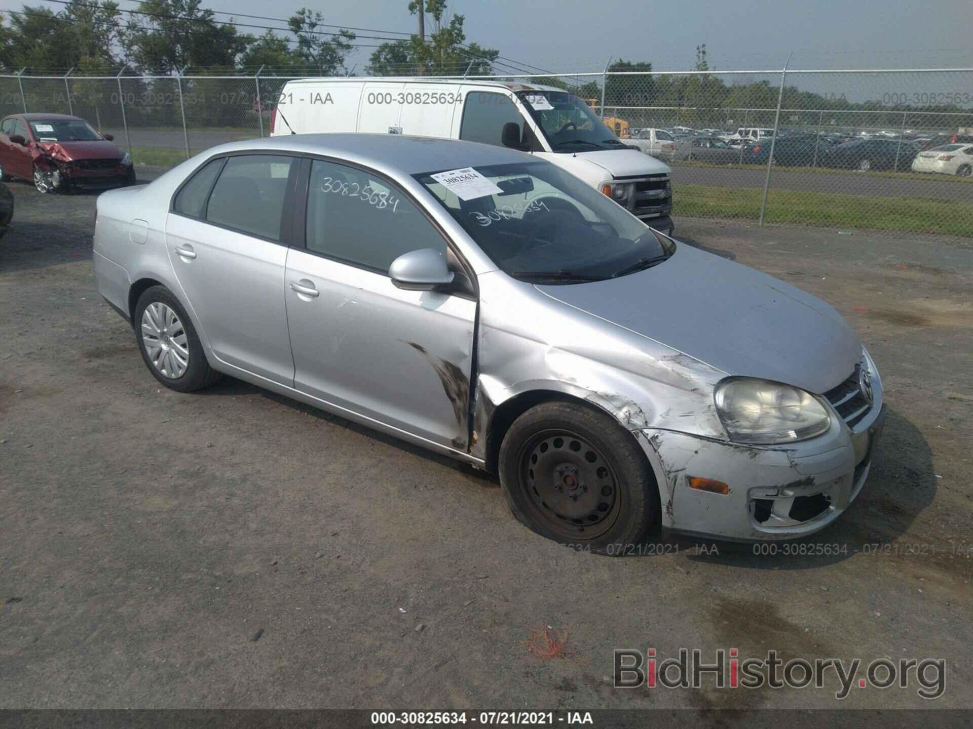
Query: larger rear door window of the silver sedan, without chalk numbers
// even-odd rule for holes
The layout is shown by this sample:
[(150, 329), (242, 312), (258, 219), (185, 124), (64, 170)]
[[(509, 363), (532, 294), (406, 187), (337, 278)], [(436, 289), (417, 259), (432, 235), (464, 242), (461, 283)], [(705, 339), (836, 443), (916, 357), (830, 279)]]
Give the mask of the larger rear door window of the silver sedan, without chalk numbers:
[(209, 195), (206, 220), (279, 241), (292, 161), (276, 155), (228, 157)]

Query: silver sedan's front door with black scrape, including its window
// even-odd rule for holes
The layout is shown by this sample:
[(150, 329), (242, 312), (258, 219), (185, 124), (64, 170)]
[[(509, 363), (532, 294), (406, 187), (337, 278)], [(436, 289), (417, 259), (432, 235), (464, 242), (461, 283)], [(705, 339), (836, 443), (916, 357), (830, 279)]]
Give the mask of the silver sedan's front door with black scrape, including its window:
[(472, 288), (405, 291), (388, 276), (404, 253), (432, 248), (447, 255), (447, 239), (407, 194), (377, 174), (323, 159), (305, 165), (306, 214), (299, 217), (306, 247), (290, 250), (286, 275), (294, 387), (466, 451), (477, 310)]

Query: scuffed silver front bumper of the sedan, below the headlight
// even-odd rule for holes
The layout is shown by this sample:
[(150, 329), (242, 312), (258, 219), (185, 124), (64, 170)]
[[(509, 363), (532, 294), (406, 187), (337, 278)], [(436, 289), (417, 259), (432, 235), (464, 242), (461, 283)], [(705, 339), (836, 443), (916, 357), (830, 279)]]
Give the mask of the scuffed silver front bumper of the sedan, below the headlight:
[[(788, 446), (748, 446), (662, 430), (638, 432), (656, 470), (669, 529), (731, 540), (786, 539), (828, 526), (858, 496), (882, 435), (885, 406), (868, 416)], [(729, 486), (728, 494), (692, 488), (690, 478)]]

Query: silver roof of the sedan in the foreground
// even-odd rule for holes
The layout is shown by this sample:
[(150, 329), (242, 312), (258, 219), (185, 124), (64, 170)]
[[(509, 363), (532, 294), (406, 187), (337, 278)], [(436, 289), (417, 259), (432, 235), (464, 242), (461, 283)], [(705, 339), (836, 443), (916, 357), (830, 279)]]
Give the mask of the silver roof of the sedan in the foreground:
[(507, 147), (458, 139), (407, 134), (284, 134), (231, 142), (207, 150), (209, 155), (248, 150), (280, 150), (308, 155), (336, 156), (378, 170), (406, 174), (437, 172), (473, 165), (542, 161)]

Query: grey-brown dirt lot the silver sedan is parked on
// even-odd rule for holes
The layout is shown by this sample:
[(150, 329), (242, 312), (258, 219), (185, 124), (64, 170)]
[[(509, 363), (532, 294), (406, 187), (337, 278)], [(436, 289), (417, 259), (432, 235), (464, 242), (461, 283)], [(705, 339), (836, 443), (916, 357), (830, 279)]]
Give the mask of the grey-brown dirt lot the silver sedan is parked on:
[[(13, 188), (0, 707), (973, 707), (968, 244), (677, 221), (847, 316), (882, 371), (885, 434), (859, 499), (807, 542), (844, 552), (663, 535), (666, 554), (610, 559), (526, 531), (494, 480), (340, 418), (234, 380), (161, 389), (95, 292), (93, 196)], [(566, 660), (527, 652), (545, 625), (568, 630)], [(833, 674), (615, 689), (615, 647), (943, 658), (946, 692), (836, 702)]]

